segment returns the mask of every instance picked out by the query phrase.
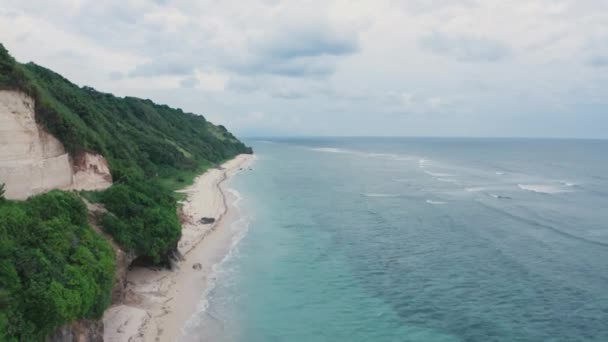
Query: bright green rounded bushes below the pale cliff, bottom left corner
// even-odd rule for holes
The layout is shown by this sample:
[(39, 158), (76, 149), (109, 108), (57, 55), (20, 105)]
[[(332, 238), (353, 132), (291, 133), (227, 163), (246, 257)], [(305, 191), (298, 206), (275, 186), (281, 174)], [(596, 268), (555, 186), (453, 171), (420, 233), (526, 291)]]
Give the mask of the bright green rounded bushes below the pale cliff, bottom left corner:
[(74, 194), (0, 200), (0, 341), (39, 341), (110, 303), (114, 251)]

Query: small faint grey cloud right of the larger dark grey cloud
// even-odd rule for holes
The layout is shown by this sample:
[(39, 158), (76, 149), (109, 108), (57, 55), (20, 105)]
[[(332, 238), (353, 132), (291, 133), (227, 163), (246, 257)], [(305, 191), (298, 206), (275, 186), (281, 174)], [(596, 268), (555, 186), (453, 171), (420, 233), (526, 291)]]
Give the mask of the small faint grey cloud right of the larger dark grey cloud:
[(497, 62), (511, 55), (504, 43), (483, 37), (450, 36), (433, 32), (419, 40), (423, 49), (460, 62)]

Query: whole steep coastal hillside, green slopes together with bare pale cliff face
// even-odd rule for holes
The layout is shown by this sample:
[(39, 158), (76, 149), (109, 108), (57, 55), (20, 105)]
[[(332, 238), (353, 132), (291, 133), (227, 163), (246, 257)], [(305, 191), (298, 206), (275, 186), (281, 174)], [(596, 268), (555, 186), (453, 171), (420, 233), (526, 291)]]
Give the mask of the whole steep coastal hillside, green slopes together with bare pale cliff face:
[(173, 190), (252, 153), (201, 115), (79, 87), (2, 45), (0, 123), (0, 341), (98, 319), (121, 286), (104, 235), (129, 260), (168, 265)]

